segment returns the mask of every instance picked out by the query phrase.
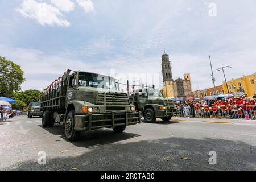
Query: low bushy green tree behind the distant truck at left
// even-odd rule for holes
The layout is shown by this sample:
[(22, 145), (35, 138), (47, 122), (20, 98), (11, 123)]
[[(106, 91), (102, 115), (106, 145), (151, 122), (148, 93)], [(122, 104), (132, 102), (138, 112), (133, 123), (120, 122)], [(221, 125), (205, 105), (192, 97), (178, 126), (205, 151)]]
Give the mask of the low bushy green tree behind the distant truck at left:
[(19, 91), (14, 93), (13, 99), (23, 101), (28, 106), (30, 102), (39, 101), (41, 93), (39, 90)]

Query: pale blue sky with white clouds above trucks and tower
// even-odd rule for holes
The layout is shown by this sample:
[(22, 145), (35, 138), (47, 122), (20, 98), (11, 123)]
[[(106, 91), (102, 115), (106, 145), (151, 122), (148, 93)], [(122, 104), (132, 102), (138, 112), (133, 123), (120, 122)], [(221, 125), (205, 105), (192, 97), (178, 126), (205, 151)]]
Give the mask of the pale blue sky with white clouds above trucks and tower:
[(23, 90), (42, 90), (68, 68), (115, 69), (117, 78), (154, 73), (160, 88), (164, 48), (173, 77), (191, 73), (193, 90), (205, 89), (212, 86), (209, 55), (217, 85), (221, 66), (232, 66), (228, 80), (255, 73), (255, 32), (254, 0), (0, 1), (0, 55), (22, 66)]

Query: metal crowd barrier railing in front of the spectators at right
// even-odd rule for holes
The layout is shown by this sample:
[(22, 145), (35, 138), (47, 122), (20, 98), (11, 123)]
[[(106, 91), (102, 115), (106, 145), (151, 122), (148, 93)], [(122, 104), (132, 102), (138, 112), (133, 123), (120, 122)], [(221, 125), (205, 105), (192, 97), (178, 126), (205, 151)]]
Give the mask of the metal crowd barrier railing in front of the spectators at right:
[(256, 119), (256, 106), (230, 105), (230, 106), (200, 106), (179, 107), (181, 117), (191, 118), (223, 118), (223, 119)]

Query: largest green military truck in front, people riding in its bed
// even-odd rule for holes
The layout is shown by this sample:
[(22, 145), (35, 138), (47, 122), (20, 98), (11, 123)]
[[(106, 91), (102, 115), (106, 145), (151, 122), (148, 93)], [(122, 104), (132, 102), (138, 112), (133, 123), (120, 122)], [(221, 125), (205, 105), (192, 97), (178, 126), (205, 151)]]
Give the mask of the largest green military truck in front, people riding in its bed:
[(68, 70), (43, 90), (43, 127), (64, 123), (67, 139), (74, 141), (81, 131), (105, 127), (121, 133), (128, 125), (141, 123), (141, 113), (135, 111), (126, 93), (118, 91), (114, 78), (72, 72)]

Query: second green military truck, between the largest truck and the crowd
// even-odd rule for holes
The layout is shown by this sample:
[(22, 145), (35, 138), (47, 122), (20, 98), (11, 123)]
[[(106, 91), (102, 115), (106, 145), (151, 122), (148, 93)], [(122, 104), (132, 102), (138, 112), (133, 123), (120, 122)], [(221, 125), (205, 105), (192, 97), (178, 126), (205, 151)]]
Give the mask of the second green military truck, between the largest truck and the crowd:
[(142, 112), (144, 121), (149, 123), (154, 123), (156, 118), (161, 118), (166, 122), (170, 121), (173, 116), (181, 115), (175, 101), (164, 98), (158, 89), (135, 89), (129, 99), (135, 109)]

